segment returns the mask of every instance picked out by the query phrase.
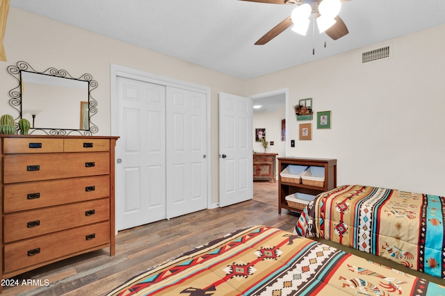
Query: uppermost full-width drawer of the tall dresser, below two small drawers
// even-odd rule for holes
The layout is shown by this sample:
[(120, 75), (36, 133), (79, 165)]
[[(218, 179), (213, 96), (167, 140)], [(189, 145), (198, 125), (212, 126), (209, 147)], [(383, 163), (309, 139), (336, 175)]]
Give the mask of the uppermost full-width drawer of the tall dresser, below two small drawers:
[(8, 154), (3, 156), (3, 183), (109, 174), (108, 152)]

